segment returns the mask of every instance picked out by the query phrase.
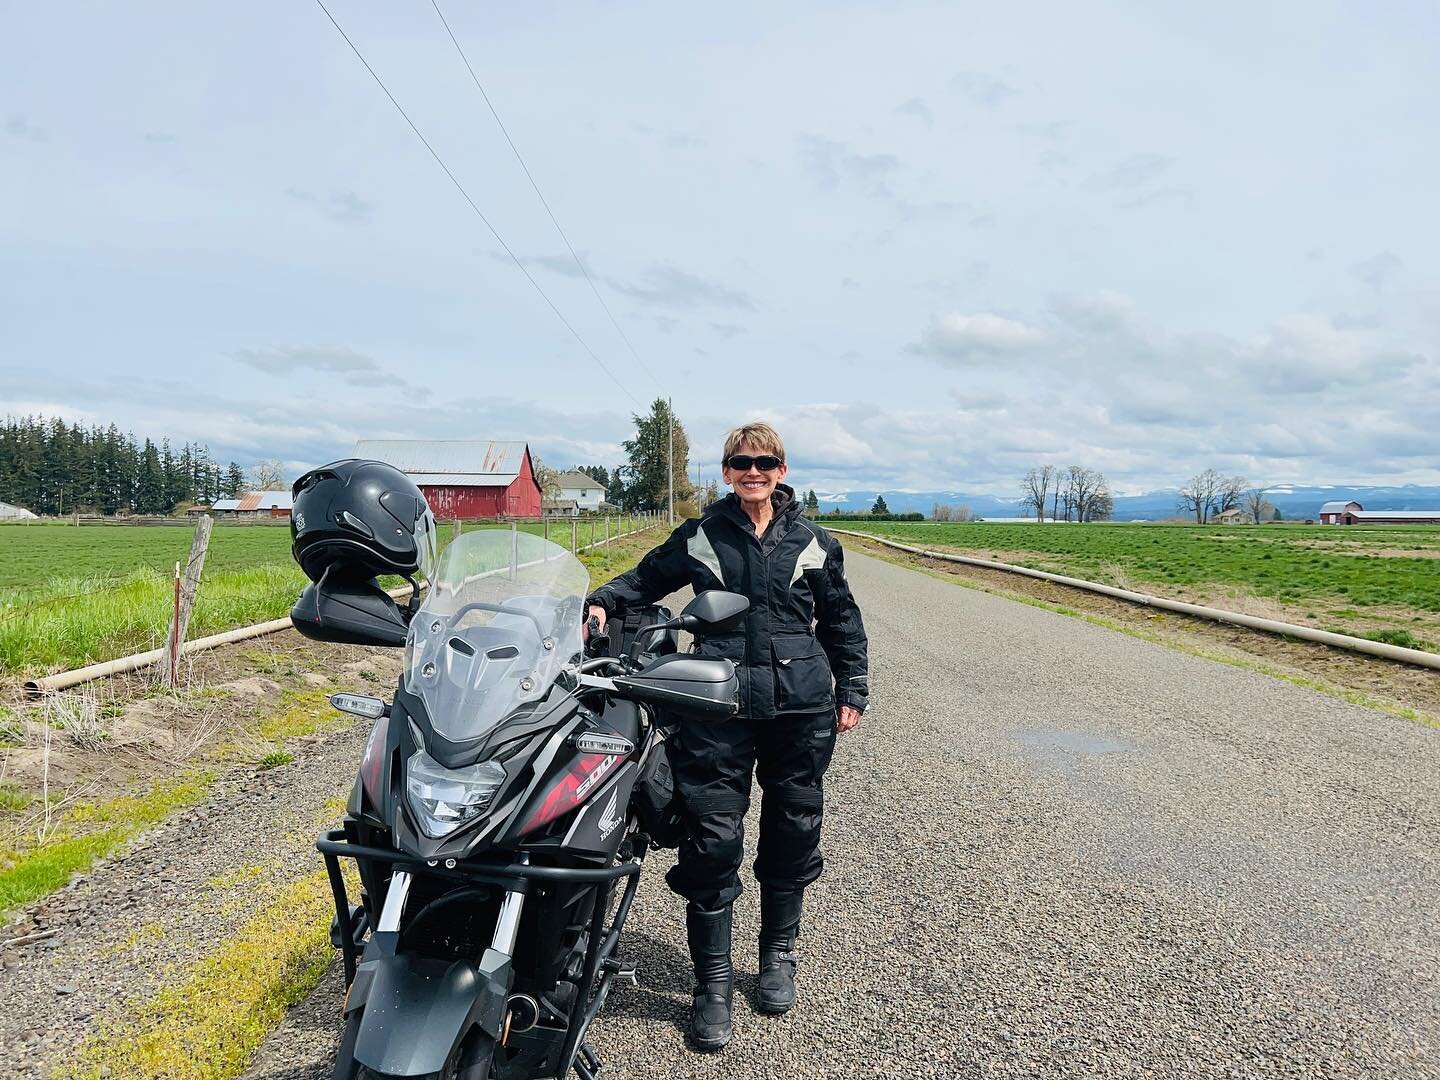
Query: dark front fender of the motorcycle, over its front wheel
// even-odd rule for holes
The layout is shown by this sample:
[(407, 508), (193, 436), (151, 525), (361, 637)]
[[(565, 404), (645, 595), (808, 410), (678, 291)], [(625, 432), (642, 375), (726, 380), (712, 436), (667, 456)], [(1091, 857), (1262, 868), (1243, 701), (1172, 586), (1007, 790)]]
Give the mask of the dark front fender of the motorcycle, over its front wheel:
[(367, 960), (347, 1002), (364, 1009), (356, 1061), (390, 1076), (439, 1073), (472, 1027), (500, 1038), (510, 986), (510, 958), (494, 949), (478, 965), (409, 953)]

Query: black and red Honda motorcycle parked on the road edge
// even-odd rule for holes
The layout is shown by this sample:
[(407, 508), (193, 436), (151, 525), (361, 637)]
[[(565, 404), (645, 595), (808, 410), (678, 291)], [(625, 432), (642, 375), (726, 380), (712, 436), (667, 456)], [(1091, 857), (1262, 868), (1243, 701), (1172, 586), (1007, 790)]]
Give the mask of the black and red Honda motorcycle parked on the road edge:
[(301, 632), (405, 648), (392, 703), (331, 698), (374, 720), (344, 824), (317, 841), (346, 978), (336, 1080), (592, 1080), (586, 1031), (635, 978), (616, 946), (675, 824), (667, 719), (737, 708), (734, 665), (678, 652), (677, 631), (733, 629), (749, 600), (651, 609), (606, 651), (583, 644), (585, 567), (516, 530), (458, 537), (405, 609), (331, 577), (295, 605)]

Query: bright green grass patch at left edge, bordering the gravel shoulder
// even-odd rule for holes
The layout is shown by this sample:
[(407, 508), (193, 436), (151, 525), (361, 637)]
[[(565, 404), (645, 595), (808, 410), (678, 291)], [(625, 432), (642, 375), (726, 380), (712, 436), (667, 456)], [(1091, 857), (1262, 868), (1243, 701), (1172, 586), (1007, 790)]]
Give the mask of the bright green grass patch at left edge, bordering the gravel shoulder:
[(204, 798), (213, 773), (157, 780), (138, 795), (81, 802), (63, 816), (60, 834), (37, 844), (12, 835), (0, 847), (0, 916), (53, 893), (143, 829)]

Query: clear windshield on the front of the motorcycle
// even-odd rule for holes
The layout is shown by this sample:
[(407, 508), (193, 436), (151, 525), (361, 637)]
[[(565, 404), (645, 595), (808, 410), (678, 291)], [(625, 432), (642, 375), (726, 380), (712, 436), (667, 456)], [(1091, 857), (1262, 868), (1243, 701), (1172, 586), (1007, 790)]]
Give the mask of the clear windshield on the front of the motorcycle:
[(508, 528), (446, 547), (410, 621), (405, 688), (446, 739), (475, 739), (580, 662), (589, 573), (559, 544)]

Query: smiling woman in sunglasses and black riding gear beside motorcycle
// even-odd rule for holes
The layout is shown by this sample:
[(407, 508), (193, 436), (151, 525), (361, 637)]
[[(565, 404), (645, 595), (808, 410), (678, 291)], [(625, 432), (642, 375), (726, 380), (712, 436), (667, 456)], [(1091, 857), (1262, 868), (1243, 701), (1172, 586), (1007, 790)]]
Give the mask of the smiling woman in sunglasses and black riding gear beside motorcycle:
[(701, 1050), (730, 1041), (734, 968), (732, 903), (740, 896), (750, 773), (759, 776), (760, 1008), (795, 1004), (801, 894), (819, 877), (821, 779), (837, 732), (860, 723), (867, 700), (865, 628), (845, 582), (840, 544), (801, 516), (785, 480), (785, 444), (768, 423), (726, 436), (733, 494), (683, 523), (660, 547), (589, 596), (606, 618), (655, 603), (685, 585), (750, 599), (742, 629), (703, 638), (700, 654), (734, 661), (740, 713), (683, 721), (670, 743), (687, 837), (670, 887), (685, 897), (696, 965), (691, 1035)]

